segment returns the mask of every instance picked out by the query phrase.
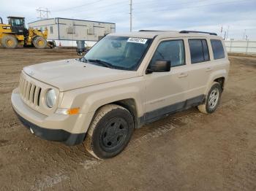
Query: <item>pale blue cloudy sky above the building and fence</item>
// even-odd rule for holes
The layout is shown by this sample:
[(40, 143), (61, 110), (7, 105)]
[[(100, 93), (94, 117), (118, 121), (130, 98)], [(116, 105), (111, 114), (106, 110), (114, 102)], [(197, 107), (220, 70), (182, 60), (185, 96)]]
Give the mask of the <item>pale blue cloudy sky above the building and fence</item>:
[[(220, 35), (223, 26), (231, 39), (242, 39), (244, 33), (256, 40), (256, 0), (132, 0), (133, 31), (197, 30)], [(36, 9), (47, 7), (50, 17), (67, 17), (116, 23), (116, 32), (129, 31), (129, 0), (0, 0), (0, 16), (26, 17), (26, 23), (37, 19)], [(246, 30), (246, 31), (245, 31)]]

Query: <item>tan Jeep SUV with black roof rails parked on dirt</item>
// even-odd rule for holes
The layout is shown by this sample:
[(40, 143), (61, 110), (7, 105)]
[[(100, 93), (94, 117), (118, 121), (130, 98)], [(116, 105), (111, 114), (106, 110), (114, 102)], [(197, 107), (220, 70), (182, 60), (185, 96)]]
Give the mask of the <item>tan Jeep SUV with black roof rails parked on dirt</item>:
[(27, 66), (12, 92), (36, 136), (118, 155), (135, 128), (197, 106), (217, 109), (230, 62), (222, 38), (200, 31), (109, 34), (82, 58)]

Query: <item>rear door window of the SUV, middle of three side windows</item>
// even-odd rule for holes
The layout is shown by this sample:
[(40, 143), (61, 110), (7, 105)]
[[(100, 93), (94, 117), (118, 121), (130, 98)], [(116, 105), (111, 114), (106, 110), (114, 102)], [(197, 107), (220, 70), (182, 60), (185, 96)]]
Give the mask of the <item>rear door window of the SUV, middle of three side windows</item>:
[(190, 39), (189, 50), (192, 63), (210, 60), (206, 39)]

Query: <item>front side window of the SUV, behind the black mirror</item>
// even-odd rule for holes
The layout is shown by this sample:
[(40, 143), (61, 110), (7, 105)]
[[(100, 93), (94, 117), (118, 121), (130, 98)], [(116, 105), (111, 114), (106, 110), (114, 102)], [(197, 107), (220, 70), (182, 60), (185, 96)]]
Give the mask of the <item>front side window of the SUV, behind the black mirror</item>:
[(156, 61), (170, 61), (170, 66), (182, 66), (185, 64), (184, 42), (183, 40), (170, 40), (161, 42), (157, 47), (151, 64)]

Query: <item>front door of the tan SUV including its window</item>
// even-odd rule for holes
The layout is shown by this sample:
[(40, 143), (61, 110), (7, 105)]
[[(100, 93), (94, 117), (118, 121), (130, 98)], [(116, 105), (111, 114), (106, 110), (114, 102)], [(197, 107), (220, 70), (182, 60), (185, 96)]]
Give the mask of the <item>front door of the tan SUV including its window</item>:
[(171, 69), (146, 74), (145, 120), (183, 109), (189, 87), (183, 39), (159, 42), (149, 66), (157, 60), (170, 61)]

